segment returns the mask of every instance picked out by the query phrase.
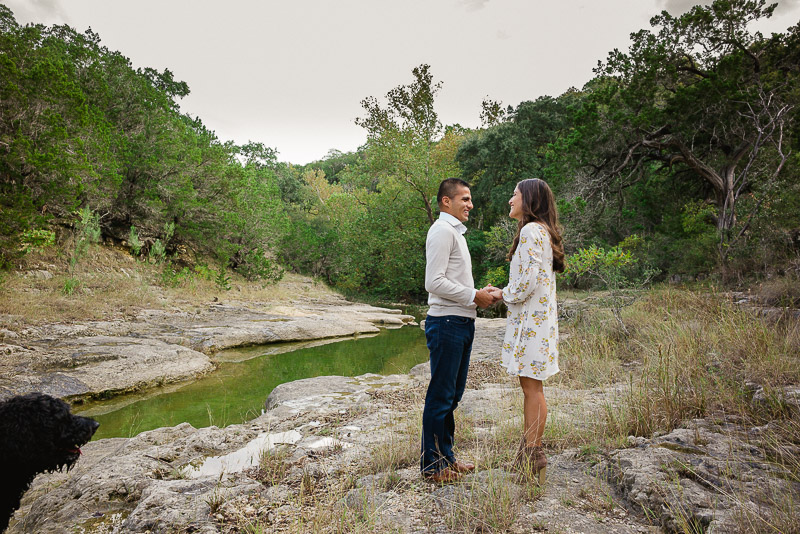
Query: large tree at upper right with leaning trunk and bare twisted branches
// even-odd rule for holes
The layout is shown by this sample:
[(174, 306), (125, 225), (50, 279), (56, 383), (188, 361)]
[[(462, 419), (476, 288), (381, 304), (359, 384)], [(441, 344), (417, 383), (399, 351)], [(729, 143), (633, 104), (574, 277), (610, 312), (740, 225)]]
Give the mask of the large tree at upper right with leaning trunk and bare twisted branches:
[[(784, 36), (750, 32), (766, 0), (715, 0), (651, 20), (612, 51), (587, 86), (579, 130), (586, 195), (618, 193), (654, 173), (688, 174), (711, 191), (722, 261), (747, 231), (789, 156), (797, 68), (776, 51)], [(783, 65), (782, 67), (780, 65)], [(764, 192), (743, 221), (742, 195)], [(760, 193), (759, 193), (760, 194)]]

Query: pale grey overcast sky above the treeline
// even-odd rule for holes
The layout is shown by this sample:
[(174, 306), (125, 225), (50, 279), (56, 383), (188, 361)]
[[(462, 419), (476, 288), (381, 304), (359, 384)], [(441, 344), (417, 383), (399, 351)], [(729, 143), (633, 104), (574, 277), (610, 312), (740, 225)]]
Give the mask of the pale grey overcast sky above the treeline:
[[(630, 33), (691, 0), (0, 0), (20, 23), (91, 27), (135, 67), (189, 84), (181, 109), (222, 140), (308, 163), (352, 151), (367, 96), (431, 65), (445, 124), (479, 125), (486, 97), (516, 106), (581, 87)], [(709, 2), (706, 2), (709, 3)], [(762, 31), (800, 18), (782, 0)]]

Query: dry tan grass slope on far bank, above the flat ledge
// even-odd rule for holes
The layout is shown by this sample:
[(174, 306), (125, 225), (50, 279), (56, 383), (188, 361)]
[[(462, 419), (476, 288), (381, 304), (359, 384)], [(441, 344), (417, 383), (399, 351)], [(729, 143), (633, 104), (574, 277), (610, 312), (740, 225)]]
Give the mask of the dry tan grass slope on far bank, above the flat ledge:
[(1, 320), (7, 326), (37, 325), (126, 318), (141, 309), (194, 311), (215, 299), (270, 304), (338, 298), (324, 284), (293, 273), (271, 285), (230, 273), (231, 289), (226, 291), (194, 272), (177, 279), (173, 287), (163, 275), (169, 266), (137, 261), (125, 250), (99, 246), (78, 264), (74, 278), (79, 285), (66, 295), (64, 287), (71, 278), (67, 260), (55, 249), (23, 258), (19, 270), (6, 274), (0, 283), (0, 315), (5, 316)]

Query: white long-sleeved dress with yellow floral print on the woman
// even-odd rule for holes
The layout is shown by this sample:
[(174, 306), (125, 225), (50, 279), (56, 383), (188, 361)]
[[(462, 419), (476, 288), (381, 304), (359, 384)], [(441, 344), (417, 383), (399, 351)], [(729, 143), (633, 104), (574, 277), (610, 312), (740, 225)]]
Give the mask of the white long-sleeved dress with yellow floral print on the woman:
[(520, 232), (503, 289), (508, 322), (502, 362), (509, 374), (545, 380), (558, 372), (558, 310), (553, 248), (539, 223)]

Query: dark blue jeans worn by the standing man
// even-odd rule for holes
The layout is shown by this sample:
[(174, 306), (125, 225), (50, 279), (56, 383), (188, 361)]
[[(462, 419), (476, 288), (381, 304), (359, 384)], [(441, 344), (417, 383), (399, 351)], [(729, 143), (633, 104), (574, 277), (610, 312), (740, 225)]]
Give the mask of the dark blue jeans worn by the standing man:
[(475, 319), (446, 315), (425, 318), (425, 338), (431, 355), (431, 381), (422, 412), (420, 469), (435, 473), (453, 462), (453, 411), (467, 385)]

